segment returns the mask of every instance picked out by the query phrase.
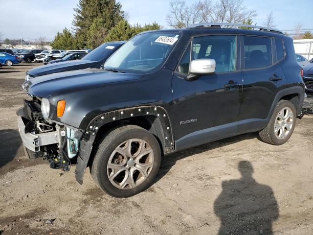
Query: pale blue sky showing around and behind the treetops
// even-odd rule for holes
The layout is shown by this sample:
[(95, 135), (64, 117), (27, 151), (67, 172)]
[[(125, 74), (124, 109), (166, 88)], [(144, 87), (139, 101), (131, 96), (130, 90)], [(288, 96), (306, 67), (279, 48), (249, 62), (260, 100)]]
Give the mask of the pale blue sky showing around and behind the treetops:
[[(169, 0), (119, 0), (123, 10), (129, 13), (131, 24), (141, 25), (156, 22), (165, 28), (166, 15), (169, 11)], [(185, 0), (192, 4), (195, 0)], [(267, 14), (273, 11), (276, 28), (294, 29), (297, 23), (303, 28), (313, 29), (313, 0), (244, 0), (249, 10), (256, 10), (254, 19), (257, 25), (263, 25)], [(53, 40), (57, 31), (70, 28), (73, 20), (73, 8), (78, 0), (0, 0), (1, 39), (21, 39), (34, 41), (44, 36)]]

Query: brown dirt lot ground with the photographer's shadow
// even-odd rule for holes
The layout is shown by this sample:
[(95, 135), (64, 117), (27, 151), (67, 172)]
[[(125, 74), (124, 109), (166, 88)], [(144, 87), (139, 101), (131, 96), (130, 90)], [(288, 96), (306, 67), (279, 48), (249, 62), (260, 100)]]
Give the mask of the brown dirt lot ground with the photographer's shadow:
[(312, 116), (282, 146), (247, 134), (168, 156), (149, 189), (116, 199), (89, 170), (80, 186), (74, 167), (24, 156), (15, 112), (35, 66), (0, 68), (1, 235), (313, 234)]

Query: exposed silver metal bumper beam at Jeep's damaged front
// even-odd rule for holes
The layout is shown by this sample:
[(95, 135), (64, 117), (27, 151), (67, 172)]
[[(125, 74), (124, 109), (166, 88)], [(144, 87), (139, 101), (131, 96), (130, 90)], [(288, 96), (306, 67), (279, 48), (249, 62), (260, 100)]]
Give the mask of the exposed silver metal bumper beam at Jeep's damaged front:
[(25, 124), (22, 120), (22, 117), (17, 118), (18, 128), (20, 132), (20, 136), (25, 148), (33, 151), (39, 152), (40, 146), (45, 146), (49, 144), (55, 144), (60, 142), (60, 134), (57, 131), (41, 133), (41, 134), (33, 134), (33, 133), (25, 133)]

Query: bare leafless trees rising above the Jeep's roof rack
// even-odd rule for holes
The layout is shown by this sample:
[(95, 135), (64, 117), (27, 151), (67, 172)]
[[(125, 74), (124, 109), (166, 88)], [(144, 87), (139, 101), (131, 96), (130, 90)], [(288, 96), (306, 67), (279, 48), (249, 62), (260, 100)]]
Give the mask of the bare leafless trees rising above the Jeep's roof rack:
[(243, 0), (199, 0), (191, 5), (183, 0), (174, 0), (170, 2), (166, 21), (169, 26), (179, 28), (209, 22), (240, 24), (256, 16), (254, 10), (247, 10)]

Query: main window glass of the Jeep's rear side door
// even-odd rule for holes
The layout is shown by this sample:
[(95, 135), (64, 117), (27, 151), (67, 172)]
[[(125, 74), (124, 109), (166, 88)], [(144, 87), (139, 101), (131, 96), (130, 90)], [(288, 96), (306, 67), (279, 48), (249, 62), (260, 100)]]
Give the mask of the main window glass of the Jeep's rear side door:
[(272, 64), (270, 38), (244, 36), (245, 68), (258, 69)]

